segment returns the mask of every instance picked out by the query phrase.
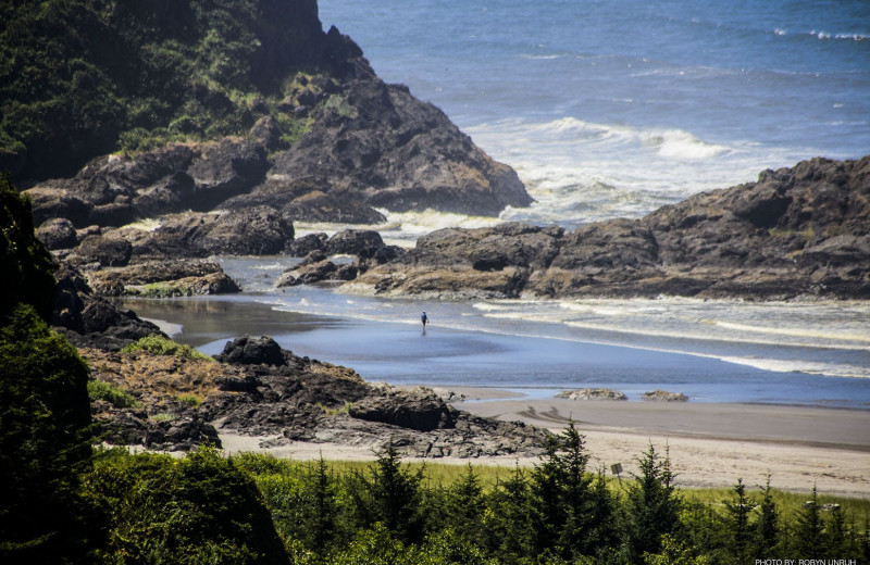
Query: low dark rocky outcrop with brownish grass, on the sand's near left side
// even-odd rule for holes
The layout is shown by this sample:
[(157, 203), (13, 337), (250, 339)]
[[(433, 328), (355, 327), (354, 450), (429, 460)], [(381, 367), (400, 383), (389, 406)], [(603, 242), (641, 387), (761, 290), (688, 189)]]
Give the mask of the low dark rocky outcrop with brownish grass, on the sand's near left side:
[[(352, 369), (294, 355), (268, 337), (226, 344), (217, 362), (82, 350), (94, 378), (124, 391), (126, 406), (95, 403), (109, 441), (186, 450), (215, 431), (289, 441), (381, 447), (412, 456), (537, 455), (546, 432), (449, 407), (427, 388), (364, 382)], [(277, 438), (277, 439), (276, 439)]]

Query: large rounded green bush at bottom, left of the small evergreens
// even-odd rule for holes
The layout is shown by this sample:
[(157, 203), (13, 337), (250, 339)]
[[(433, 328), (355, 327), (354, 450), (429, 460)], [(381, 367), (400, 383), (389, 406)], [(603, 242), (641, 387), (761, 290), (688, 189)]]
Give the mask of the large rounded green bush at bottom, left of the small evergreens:
[(105, 513), (97, 563), (288, 563), (253, 481), (212, 449), (110, 460), (86, 486)]

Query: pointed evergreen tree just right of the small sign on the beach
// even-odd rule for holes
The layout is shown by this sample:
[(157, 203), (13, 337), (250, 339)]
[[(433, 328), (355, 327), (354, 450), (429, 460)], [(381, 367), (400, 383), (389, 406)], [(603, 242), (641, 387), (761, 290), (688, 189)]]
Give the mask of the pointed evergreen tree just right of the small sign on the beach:
[(659, 553), (661, 537), (678, 528), (681, 506), (668, 451), (661, 460), (650, 443), (638, 464), (641, 474), (634, 475), (625, 500), (626, 541), (633, 561), (644, 553)]

